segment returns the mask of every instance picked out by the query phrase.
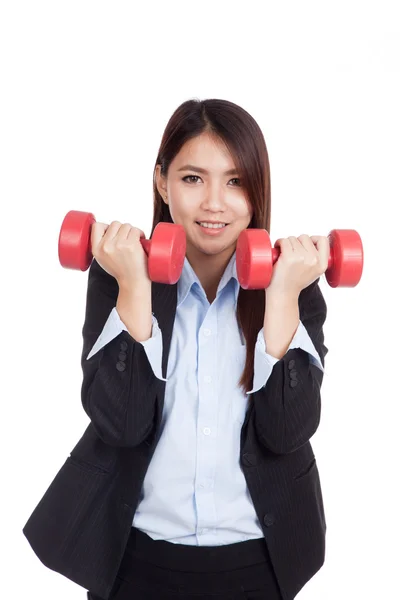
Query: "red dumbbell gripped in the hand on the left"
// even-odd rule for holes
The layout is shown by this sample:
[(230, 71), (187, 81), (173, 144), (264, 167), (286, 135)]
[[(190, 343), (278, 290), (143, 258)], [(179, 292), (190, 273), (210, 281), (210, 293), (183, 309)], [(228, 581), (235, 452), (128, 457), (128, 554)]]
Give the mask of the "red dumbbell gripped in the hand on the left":
[[(69, 211), (61, 225), (58, 238), (58, 258), (66, 269), (86, 271), (93, 260), (91, 229), (96, 219), (92, 213)], [(181, 275), (186, 255), (186, 234), (182, 225), (158, 223), (151, 240), (142, 238), (148, 256), (148, 271), (152, 281), (176, 283)]]

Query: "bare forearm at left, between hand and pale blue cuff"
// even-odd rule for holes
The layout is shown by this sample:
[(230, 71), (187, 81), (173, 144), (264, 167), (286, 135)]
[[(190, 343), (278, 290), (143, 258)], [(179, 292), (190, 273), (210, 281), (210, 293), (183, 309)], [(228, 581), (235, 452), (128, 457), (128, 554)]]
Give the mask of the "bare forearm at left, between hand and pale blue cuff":
[(116, 309), (121, 321), (134, 340), (148, 340), (152, 331), (151, 284), (134, 286), (119, 282), (118, 286)]

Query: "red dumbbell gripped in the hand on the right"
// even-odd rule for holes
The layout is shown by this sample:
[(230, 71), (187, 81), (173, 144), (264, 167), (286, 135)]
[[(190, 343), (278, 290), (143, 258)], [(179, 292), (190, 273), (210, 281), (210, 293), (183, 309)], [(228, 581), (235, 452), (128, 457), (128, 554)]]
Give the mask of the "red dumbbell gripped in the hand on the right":
[[(330, 254), (325, 277), (331, 287), (355, 287), (361, 279), (364, 252), (354, 229), (332, 229), (328, 234)], [(281, 250), (271, 247), (266, 229), (245, 229), (236, 245), (236, 268), (242, 288), (267, 288), (272, 268)]]

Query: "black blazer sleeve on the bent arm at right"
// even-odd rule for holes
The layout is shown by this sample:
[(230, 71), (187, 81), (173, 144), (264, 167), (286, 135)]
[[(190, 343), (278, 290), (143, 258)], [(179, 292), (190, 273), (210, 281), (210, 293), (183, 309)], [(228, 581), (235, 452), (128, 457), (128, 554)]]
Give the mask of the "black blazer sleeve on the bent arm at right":
[[(325, 368), (328, 348), (323, 325), (327, 306), (315, 280), (299, 295), (300, 320)], [(302, 348), (292, 348), (278, 360), (264, 387), (252, 394), (255, 428), (259, 440), (276, 454), (294, 452), (310, 440), (321, 417), (324, 371)]]

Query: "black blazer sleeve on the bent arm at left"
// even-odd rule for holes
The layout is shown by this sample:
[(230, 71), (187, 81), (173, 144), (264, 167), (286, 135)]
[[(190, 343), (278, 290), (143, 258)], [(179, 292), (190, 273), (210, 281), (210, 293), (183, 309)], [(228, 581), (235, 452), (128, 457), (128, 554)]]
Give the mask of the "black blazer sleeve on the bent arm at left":
[(143, 344), (124, 330), (88, 358), (116, 305), (118, 292), (116, 279), (93, 259), (82, 329), (81, 400), (106, 444), (133, 447), (153, 429), (159, 382)]

